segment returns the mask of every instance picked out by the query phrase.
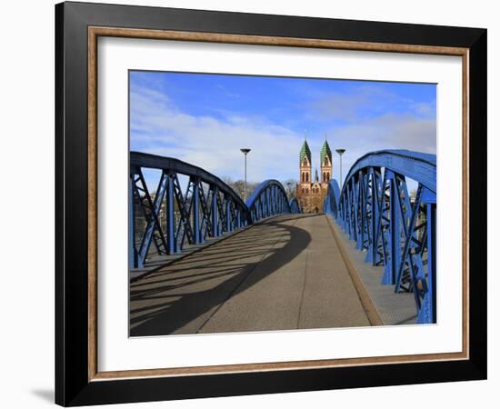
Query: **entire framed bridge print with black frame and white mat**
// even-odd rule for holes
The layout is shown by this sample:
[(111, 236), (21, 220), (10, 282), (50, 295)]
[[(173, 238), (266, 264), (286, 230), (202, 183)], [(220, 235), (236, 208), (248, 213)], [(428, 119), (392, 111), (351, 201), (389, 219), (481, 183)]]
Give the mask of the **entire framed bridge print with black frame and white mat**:
[(62, 405), (486, 376), (486, 30), (63, 3)]

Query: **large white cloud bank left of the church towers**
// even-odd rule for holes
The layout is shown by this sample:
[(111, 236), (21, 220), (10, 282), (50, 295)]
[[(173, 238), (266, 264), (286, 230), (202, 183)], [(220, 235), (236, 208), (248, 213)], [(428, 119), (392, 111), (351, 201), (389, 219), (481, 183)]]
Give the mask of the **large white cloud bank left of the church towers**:
[(147, 88), (135, 87), (130, 101), (135, 149), (140, 146), (145, 152), (173, 156), (236, 179), (243, 177), (240, 148), (249, 147), (248, 180), (296, 178), (302, 136), (284, 126), (241, 115), (186, 115), (168, 97)]

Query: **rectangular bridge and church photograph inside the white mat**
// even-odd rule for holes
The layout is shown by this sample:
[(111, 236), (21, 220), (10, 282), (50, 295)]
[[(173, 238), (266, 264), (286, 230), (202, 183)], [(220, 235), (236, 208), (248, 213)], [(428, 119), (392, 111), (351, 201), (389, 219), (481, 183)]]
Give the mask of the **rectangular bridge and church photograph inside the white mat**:
[(438, 324), (436, 84), (128, 71), (129, 336)]

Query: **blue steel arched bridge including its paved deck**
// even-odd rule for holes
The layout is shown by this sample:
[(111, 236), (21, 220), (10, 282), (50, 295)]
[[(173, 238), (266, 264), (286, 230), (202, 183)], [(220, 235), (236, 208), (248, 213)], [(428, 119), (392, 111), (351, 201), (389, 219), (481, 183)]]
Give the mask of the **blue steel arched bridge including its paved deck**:
[(435, 323), (435, 166), (369, 153), (304, 214), (275, 179), (245, 203), (200, 167), (132, 152), (131, 335)]

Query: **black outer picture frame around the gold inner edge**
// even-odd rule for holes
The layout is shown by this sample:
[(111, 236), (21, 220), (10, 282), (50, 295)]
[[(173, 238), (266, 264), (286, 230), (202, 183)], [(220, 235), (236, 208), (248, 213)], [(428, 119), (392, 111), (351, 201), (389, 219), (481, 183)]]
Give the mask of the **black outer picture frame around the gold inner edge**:
[[(233, 374), (89, 380), (89, 26), (265, 35), (469, 50), (469, 358)], [(73, 406), (486, 378), (486, 30), (283, 15), (55, 5), (55, 402)]]

